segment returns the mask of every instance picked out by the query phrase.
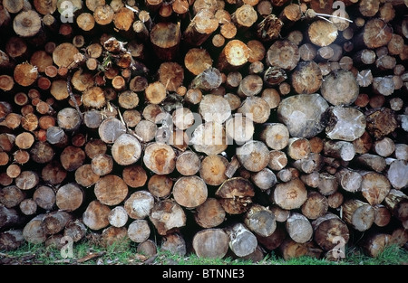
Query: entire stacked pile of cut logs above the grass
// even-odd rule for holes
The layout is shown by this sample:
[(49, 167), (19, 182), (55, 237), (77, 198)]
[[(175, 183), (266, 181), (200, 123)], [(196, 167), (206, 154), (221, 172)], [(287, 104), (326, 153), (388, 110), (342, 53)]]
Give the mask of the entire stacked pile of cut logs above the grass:
[(3, 0), (0, 249), (403, 246), (407, 6)]

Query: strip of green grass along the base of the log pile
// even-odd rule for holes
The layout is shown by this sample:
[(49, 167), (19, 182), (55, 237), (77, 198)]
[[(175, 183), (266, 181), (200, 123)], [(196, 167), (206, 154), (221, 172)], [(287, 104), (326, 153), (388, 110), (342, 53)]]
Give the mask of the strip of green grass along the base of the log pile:
[[(65, 253), (66, 254), (66, 253)], [(103, 248), (87, 242), (73, 245), (73, 257), (63, 257), (61, 250), (45, 248), (44, 244), (26, 243), (18, 250), (0, 250), (0, 264), (19, 265), (141, 265), (148, 258), (136, 251), (129, 242), (122, 242)], [(357, 248), (346, 249), (345, 258), (339, 260), (316, 259), (303, 256), (294, 259), (282, 259), (271, 251), (258, 262), (248, 259), (201, 259), (194, 253), (185, 256), (175, 255), (167, 250), (159, 250), (157, 256), (148, 259), (152, 265), (406, 265), (408, 251), (390, 245), (377, 257), (364, 255)]]

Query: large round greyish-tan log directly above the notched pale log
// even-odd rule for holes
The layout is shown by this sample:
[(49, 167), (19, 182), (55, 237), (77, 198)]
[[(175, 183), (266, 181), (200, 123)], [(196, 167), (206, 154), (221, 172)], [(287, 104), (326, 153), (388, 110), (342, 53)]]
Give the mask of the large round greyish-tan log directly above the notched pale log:
[(322, 96), (332, 105), (351, 105), (357, 99), (359, 86), (351, 71), (337, 70), (325, 76), (322, 82)]

